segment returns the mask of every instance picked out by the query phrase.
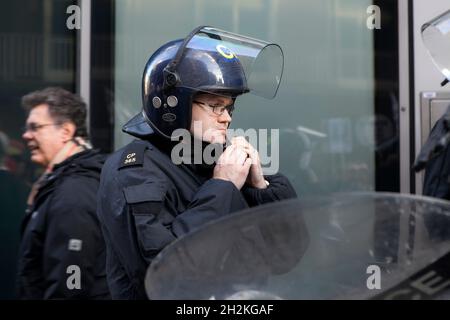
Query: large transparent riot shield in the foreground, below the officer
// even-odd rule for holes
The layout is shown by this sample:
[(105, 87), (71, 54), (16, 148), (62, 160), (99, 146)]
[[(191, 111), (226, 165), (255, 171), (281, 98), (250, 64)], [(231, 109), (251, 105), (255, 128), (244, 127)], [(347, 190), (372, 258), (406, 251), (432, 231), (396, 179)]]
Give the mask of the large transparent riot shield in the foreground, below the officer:
[(250, 208), (166, 247), (146, 291), (188, 300), (444, 297), (450, 281), (427, 266), (450, 270), (449, 221), (450, 202), (388, 193)]

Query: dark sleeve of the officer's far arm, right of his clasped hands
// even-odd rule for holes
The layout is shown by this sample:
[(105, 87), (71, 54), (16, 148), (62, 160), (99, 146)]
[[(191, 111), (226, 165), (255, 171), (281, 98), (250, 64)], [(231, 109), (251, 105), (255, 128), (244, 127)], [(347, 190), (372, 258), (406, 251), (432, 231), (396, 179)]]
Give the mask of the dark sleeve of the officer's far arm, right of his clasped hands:
[(297, 198), (297, 193), (284, 175), (275, 174), (264, 178), (269, 182), (266, 189), (256, 189), (249, 186), (242, 189), (249, 206), (254, 207), (269, 202)]

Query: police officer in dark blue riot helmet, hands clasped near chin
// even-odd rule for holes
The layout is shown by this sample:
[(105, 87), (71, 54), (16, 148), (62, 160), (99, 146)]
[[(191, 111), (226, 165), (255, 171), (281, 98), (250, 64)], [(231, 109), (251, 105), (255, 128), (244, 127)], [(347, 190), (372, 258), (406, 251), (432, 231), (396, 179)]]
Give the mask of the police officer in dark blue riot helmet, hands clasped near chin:
[[(236, 98), (257, 91), (248, 66), (264, 48), (265, 42), (199, 27), (149, 58), (143, 110), (123, 127), (138, 139), (107, 160), (98, 194), (113, 298), (146, 298), (147, 267), (175, 239), (249, 206), (296, 197), (283, 175), (263, 175), (258, 151), (244, 137), (226, 145)], [(174, 153), (180, 143), (187, 148)], [(211, 146), (220, 152), (208, 163), (202, 155)]]

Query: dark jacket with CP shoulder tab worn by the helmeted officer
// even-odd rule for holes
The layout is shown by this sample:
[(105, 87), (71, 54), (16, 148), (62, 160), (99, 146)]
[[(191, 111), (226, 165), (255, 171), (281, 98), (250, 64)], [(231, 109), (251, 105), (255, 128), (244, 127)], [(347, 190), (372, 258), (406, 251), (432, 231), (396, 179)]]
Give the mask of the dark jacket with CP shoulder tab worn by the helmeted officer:
[(146, 299), (147, 267), (175, 239), (249, 205), (296, 197), (282, 175), (267, 176), (267, 189), (240, 191), (213, 179), (212, 170), (175, 165), (161, 149), (135, 140), (108, 158), (102, 170), (97, 213), (113, 299)]

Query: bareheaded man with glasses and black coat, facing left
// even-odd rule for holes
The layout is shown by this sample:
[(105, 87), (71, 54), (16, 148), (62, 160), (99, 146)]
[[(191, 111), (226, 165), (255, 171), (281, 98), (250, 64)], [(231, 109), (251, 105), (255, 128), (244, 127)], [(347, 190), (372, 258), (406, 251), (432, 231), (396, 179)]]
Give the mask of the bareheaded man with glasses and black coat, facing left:
[(44, 172), (22, 223), (19, 298), (108, 298), (96, 216), (105, 157), (89, 143), (86, 104), (62, 88), (29, 93), (22, 104), (28, 112), (22, 137)]

